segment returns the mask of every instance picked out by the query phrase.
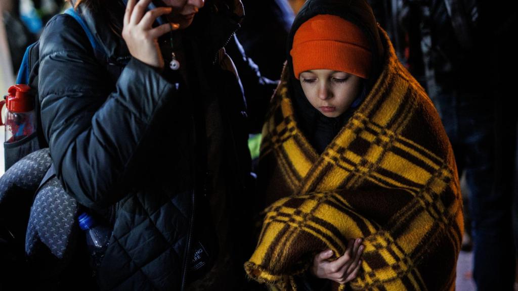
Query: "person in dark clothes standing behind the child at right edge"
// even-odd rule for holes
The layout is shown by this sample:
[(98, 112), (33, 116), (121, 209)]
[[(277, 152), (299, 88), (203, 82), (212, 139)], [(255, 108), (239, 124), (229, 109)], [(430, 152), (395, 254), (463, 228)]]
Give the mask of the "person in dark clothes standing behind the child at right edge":
[(421, 10), (421, 48), (430, 98), (469, 187), (477, 289), (512, 290), (511, 205), (516, 150), (511, 37), (517, 4), (406, 0)]

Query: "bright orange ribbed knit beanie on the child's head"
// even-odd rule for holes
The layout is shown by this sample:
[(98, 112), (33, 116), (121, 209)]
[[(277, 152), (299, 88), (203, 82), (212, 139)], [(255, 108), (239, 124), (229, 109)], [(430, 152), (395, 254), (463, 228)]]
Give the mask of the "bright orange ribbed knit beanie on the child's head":
[(369, 41), (358, 26), (339, 16), (319, 14), (300, 25), (290, 54), (297, 79), (301, 72), (312, 69), (369, 77)]

